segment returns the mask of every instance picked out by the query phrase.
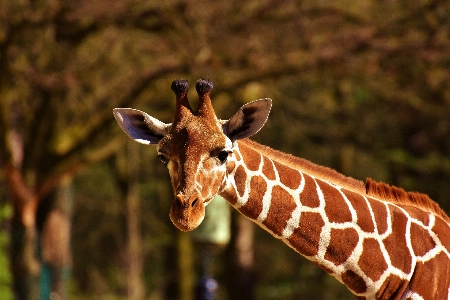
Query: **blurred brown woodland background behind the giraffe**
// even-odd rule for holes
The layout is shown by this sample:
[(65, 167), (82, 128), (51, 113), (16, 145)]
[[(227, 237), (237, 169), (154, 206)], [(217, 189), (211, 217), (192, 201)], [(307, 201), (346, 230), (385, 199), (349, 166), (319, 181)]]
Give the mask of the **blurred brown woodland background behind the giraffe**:
[(179, 232), (112, 109), (171, 122), (209, 78), (222, 119), (273, 99), (254, 140), (450, 213), (449, 70), (449, 1), (2, 0), (0, 299), (190, 300), (204, 249), (217, 299), (351, 298), (234, 210), (228, 243)]

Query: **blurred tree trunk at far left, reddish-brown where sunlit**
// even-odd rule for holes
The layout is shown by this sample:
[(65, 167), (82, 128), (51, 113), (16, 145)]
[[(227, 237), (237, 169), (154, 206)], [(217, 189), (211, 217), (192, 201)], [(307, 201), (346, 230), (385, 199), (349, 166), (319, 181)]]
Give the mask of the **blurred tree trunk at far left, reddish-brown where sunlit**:
[(10, 261), (15, 299), (39, 299), (40, 262), (37, 257), (38, 233), (36, 210), (39, 198), (33, 191), (35, 175), (24, 175), (24, 140), (21, 131), (22, 111), (16, 103), (4, 108), (2, 150), (5, 151), (5, 177), (14, 208), (11, 226)]

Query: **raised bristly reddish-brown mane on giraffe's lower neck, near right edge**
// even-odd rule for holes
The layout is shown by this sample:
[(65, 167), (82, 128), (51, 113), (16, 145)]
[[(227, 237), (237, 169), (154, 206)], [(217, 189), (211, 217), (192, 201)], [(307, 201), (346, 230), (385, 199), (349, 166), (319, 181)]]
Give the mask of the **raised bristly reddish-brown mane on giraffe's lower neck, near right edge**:
[(386, 200), (396, 204), (412, 205), (421, 210), (425, 210), (441, 217), (447, 222), (450, 218), (439, 207), (439, 204), (431, 200), (426, 194), (417, 192), (406, 192), (404, 189), (391, 186), (387, 183), (376, 182), (371, 178), (366, 179), (366, 194), (369, 197)]

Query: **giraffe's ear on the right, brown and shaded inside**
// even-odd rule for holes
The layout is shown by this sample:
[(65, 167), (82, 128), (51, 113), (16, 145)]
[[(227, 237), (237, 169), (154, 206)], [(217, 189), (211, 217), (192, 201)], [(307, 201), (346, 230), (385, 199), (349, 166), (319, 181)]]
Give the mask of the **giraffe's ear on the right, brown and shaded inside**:
[(256, 100), (239, 108), (237, 113), (223, 124), (224, 133), (234, 142), (257, 133), (266, 123), (272, 100)]

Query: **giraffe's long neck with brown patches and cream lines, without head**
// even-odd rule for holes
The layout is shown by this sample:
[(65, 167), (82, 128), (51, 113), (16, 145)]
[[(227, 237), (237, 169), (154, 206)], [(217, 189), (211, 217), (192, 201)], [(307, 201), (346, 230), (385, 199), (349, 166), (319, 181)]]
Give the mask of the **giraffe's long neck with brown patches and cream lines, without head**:
[(361, 181), (255, 142), (241, 140), (235, 148), (221, 195), (354, 294), (418, 296), (410, 284), (417, 267), (433, 269), (438, 257), (446, 275), (439, 295), (447, 299), (450, 227), (440, 217), (369, 198)]

